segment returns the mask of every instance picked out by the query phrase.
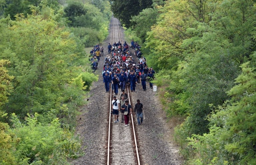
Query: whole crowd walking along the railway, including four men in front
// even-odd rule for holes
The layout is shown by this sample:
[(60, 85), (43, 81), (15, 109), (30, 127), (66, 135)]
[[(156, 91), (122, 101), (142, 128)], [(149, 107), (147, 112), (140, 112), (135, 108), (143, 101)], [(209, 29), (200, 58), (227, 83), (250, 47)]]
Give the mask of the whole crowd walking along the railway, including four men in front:
[[(131, 105), (129, 104), (128, 96), (125, 93), (125, 86), (129, 86), (131, 92), (136, 91), (136, 85), (142, 85), (144, 91), (147, 90), (146, 81), (149, 81), (149, 87), (153, 88), (153, 79), (155, 71), (153, 68), (149, 68), (146, 63), (146, 58), (142, 56), (140, 51), (140, 45), (137, 42), (131, 41), (131, 46), (134, 50), (134, 55), (138, 58), (138, 63), (134, 61), (129, 51), (129, 46), (126, 42), (122, 45), (120, 41), (114, 42), (113, 45), (108, 44), (108, 54), (104, 58), (103, 66), (103, 83), (105, 85), (106, 92), (110, 91), (110, 85), (115, 93), (118, 95), (118, 91), (121, 90), (120, 99), (114, 96), (112, 100), (112, 113), (115, 118), (115, 123), (118, 123), (119, 112), (121, 113), (121, 122), (125, 122), (125, 126), (129, 123), (129, 116), (131, 115)], [(102, 50), (102, 51), (101, 51)], [(99, 44), (94, 46), (91, 54), (92, 68), (96, 70), (98, 68), (98, 61), (100, 57), (103, 57), (103, 47), (100, 48)], [(138, 120), (138, 125), (143, 122), (143, 105), (140, 100), (137, 100), (135, 104), (134, 112)]]

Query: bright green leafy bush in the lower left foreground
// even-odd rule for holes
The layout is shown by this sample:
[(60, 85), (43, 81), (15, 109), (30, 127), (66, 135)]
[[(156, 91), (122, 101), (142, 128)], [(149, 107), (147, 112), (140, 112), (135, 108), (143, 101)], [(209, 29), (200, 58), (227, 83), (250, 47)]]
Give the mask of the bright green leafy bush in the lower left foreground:
[[(38, 123), (38, 114), (29, 115), (21, 124), (12, 114), (14, 129), (18, 139), (15, 157), (26, 164), (68, 164), (66, 157), (76, 157), (80, 143), (68, 129), (62, 129), (58, 119), (50, 124)], [(24, 163), (25, 164), (25, 163)]]

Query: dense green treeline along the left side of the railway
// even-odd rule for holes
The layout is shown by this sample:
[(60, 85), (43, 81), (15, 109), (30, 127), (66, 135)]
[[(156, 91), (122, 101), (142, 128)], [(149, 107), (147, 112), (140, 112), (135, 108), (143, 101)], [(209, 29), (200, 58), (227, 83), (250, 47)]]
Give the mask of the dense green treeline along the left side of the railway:
[(110, 3), (61, 2), (0, 1), (1, 165), (69, 164), (84, 154), (76, 115), (97, 80), (84, 48), (107, 36)]

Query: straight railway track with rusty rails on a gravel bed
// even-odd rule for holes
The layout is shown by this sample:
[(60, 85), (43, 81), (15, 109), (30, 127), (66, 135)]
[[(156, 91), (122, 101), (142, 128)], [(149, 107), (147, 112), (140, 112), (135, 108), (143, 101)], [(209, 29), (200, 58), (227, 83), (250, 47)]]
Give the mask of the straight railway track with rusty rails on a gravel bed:
[[(113, 21), (113, 41), (121, 41), (118, 20)], [(120, 90), (119, 90), (120, 91)], [(126, 87), (129, 104), (133, 107), (130, 90)], [(111, 101), (113, 100), (113, 93), (110, 85), (109, 107), (108, 107), (108, 134), (107, 134), (107, 151), (105, 164), (107, 165), (141, 165), (141, 156), (138, 147), (135, 117), (131, 113), (129, 125), (125, 127), (124, 123), (114, 123), (114, 116), (111, 114)], [(119, 99), (120, 95), (116, 95)], [(121, 118), (121, 115), (119, 119)]]

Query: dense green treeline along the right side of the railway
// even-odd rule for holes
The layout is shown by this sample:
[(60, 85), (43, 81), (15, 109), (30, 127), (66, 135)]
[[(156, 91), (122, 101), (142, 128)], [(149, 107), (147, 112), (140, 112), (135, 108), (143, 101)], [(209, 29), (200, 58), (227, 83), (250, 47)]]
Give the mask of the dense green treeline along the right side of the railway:
[(131, 19), (123, 21), (158, 71), (155, 84), (165, 91), (160, 94), (167, 116), (185, 118), (175, 139), (186, 164), (256, 162), (255, 5), (253, 0), (152, 1), (139, 14), (131, 9)]

